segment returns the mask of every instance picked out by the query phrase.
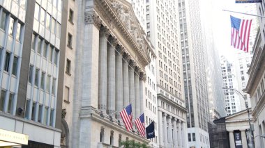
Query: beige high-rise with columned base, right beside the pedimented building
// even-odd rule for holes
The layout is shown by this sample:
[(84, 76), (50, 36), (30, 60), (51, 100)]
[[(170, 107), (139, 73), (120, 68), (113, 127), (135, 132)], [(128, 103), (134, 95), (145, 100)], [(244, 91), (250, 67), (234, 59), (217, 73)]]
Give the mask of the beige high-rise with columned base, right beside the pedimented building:
[(146, 1), (146, 32), (156, 49), (159, 147), (187, 147), (177, 1)]

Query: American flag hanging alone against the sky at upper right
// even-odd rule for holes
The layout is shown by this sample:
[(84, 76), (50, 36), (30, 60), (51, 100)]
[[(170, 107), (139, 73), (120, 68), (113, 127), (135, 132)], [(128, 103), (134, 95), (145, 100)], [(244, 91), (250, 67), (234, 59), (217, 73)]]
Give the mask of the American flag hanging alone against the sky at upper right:
[(231, 18), (231, 45), (236, 49), (248, 52), (252, 19)]

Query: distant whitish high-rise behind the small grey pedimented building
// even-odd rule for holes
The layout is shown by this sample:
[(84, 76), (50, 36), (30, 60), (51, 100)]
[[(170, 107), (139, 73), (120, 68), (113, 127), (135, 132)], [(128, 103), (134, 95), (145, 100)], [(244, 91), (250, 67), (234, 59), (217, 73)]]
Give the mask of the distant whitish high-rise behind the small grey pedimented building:
[[(224, 88), (232, 88), (239, 90), (236, 79), (236, 67), (225, 58), (221, 56), (222, 81)], [(225, 110), (226, 115), (232, 115), (242, 110), (241, 99), (239, 94), (233, 90), (225, 89)]]

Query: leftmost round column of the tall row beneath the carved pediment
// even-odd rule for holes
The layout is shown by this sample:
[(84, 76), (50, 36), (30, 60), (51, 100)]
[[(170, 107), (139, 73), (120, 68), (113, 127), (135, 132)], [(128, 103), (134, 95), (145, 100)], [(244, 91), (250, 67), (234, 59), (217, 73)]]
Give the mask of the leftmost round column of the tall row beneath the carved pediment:
[(98, 108), (106, 113), (107, 110), (107, 37), (109, 29), (100, 28), (99, 44), (99, 83), (98, 83)]

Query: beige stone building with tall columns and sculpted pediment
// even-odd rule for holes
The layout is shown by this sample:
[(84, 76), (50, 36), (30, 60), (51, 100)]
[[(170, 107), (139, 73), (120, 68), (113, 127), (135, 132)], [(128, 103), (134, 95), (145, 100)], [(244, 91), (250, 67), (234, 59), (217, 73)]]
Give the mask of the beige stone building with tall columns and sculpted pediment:
[(73, 127), (70, 147), (119, 147), (121, 140), (147, 144), (149, 141), (135, 126), (133, 132), (126, 131), (119, 117), (130, 103), (134, 119), (143, 113), (145, 67), (151, 62), (153, 50), (131, 4), (94, 0), (75, 1), (75, 5), (78, 12), (73, 47), (76, 58), (70, 57), (75, 59), (73, 119), (68, 125)]

